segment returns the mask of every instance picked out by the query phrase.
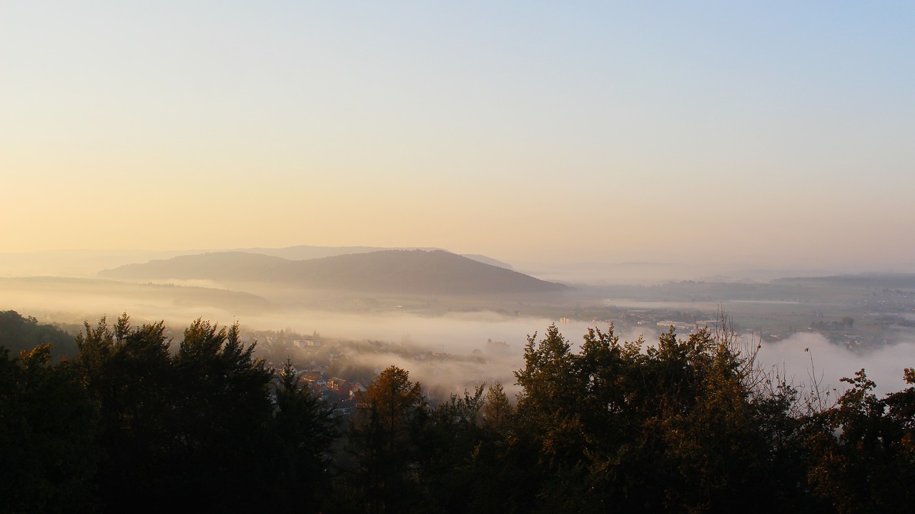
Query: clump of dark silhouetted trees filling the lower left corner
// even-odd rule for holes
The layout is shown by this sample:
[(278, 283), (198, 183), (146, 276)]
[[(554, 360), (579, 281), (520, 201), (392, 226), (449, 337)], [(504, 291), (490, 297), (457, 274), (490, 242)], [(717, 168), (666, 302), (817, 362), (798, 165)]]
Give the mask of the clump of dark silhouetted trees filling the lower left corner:
[(77, 346), (57, 366), (47, 347), (0, 355), (0, 506), (317, 510), (332, 406), (255, 359), (237, 325), (198, 319), (173, 353), (161, 322), (124, 315)]

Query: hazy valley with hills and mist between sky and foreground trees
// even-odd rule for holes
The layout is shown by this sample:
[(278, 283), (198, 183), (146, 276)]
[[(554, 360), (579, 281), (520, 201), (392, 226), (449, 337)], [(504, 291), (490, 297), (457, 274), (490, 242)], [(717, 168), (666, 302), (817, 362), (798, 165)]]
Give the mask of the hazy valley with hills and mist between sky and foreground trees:
[[(744, 337), (761, 342), (759, 357), (766, 366), (791, 369), (799, 383), (819, 371), (838, 387), (839, 378), (858, 368), (879, 368), (888, 369), (879, 372), (881, 391), (891, 391), (901, 383), (900, 367), (915, 359), (910, 346), (915, 341), (915, 282), (906, 273), (643, 283), (640, 273), (646, 265), (608, 264), (605, 268), (613, 273), (637, 268), (629, 280), (608, 284), (608, 275), (595, 273), (599, 266), (591, 264), (580, 269), (578, 282), (556, 283), (519, 273), (522, 267), (511, 263), (438, 249), (176, 251), (153, 255), (165, 259), (132, 262), (137, 255), (96, 257), (94, 262), (111, 267), (82, 274), (100, 278), (0, 279), (0, 302), (70, 327), (122, 312), (137, 321), (164, 319), (173, 327), (202, 316), (223, 324), (241, 321), (251, 334), (285, 330), (339, 341), (384, 341), (407, 345), (417, 355), (428, 351), (472, 358), (476, 351), (478, 359), (414, 365), (418, 378), (457, 390), (492, 380), (511, 389), (526, 337), (554, 323), (571, 341), (588, 327), (607, 329), (612, 323), (624, 340), (643, 337), (651, 344), (671, 326), (684, 337), (714, 326), (720, 311)], [(0, 254), (3, 259), (13, 262)], [(62, 268), (63, 263), (49, 265)], [(681, 273), (690, 269), (680, 267)], [(29, 268), (7, 265), (6, 270), (22, 274)], [(692, 268), (696, 278), (703, 271)], [(811, 340), (813, 362), (809, 354), (798, 354), (798, 348), (811, 346), (803, 341)], [(498, 359), (484, 359), (479, 352), (486, 341), (505, 343), (506, 351)], [(299, 353), (287, 343), (270, 345), (274, 365), (283, 359), (278, 348), (289, 350), (290, 357)], [(348, 359), (371, 361), (371, 369), (383, 369), (384, 359), (404, 365), (407, 359), (386, 353), (356, 357), (354, 351), (347, 350)], [(897, 358), (885, 359), (888, 352)], [(303, 357), (299, 365), (308, 367), (309, 361)]]

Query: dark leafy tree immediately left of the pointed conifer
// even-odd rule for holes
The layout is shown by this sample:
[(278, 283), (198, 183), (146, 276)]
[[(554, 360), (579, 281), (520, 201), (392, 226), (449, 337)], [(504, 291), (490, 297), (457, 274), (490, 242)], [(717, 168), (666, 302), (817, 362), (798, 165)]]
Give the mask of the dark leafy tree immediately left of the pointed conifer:
[[(274, 413), (274, 370), (254, 359), (254, 348), (242, 344), (238, 323), (219, 327), (198, 318), (185, 329), (173, 359), (178, 472), (172, 487), (192, 498), (192, 507), (263, 505), (252, 489), (263, 490), (269, 473), (263, 449)], [(236, 477), (248, 477), (249, 486), (228, 487)]]

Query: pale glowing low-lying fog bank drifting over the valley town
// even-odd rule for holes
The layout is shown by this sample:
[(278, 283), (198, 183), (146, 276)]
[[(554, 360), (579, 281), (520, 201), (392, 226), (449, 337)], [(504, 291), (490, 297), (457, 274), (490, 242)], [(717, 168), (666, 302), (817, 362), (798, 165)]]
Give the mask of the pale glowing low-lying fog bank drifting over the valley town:
[[(86, 294), (77, 284), (72, 288), (59, 284), (46, 288), (35, 284), (16, 287), (17, 283), (0, 288), (0, 309), (13, 309), (24, 316), (36, 316), (42, 322), (94, 323), (100, 316), (113, 319), (127, 312), (135, 324), (164, 319), (178, 339), (180, 331), (197, 317), (210, 319), (221, 325), (239, 320), (243, 329), (291, 330), (310, 335), (318, 332), (322, 337), (351, 340), (376, 340), (403, 343), (416, 348), (426, 348), (435, 353), (448, 353), (468, 359), (448, 359), (425, 362), (402, 359), (393, 354), (360, 356), (358, 359), (380, 359), (374, 368), (383, 369), (395, 364), (411, 371), (415, 380), (439, 383), (442, 387), (461, 390), (481, 381), (500, 380), (506, 389), (512, 386), (512, 371), (523, 364), (523, 347), (528, 335), (541, 337), (550, 324), (556, 322), (563, 335), (574, 345), (581, 342), (591, 323), (559, 320), (544, 317), (503, 316), (491, 312), (452, 313), (445, 316), (418, 316), (410, 313), (339, 314), (315, 310), (264, 310), (258, 314), (240, 314), (229, 307), (188, 305), (187, 302), (163, 297), (140, 300), (135, 294), (118, 296), (111, 292)], [(20, 284), (21, 285), (21, 284)], [(606, 329), (607, 325), (599, 325)], [(634, 340), (643, 336), (647, 343), (655, 341), (655, 327), (645, 327), (643, 332), (618, 334), (621, 340)], [(501, 341), (508, 348), (498, 354), (488, 351), (488, 340)], [(807, 348), (809, 351), (804, 351)], [(474, 353), (474, 350), (479, 350)], [(811, 363), (813, 357), (813, 364)], [(483, 363), (480, 362), (483, 361)], [(810, 381), (813, 371), (821, 380), (822, 388), (843, 388), (839, 381), (851, 377), (857, 369), (867, 369), (867, 376), (877, 382), (877, 391), (899, 391), (905, 387), (902, 371), (915, 367), (915, 333), (899, 336), (895, 344), (869, 349), (861, 354), (828, 342), (815, 333), (800, 333), (779, 343), (764, 343), (759, 350), (759, 361), (767, 368), (783, 369), (796, 384)]]

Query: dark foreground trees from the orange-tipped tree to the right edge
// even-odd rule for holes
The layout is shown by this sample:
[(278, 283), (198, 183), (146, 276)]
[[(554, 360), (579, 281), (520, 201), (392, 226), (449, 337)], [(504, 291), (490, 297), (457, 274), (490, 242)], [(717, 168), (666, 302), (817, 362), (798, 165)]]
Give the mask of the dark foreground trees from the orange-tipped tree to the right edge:
[[(577, 351), (576, 351), (577, 349)], [(350, 432), (350, 483), (371, 512), (892, 512), (915, 506), (915, 390), (878, 399), (863, 371), (815, 408), (760, 371), (726, 330), (657, 344), (589, 330), (580, 348), (530, 337), (516, 406), (494, 384), (430, 408), (403, 369), (366, 398)], [(915, 381), (915, 371), (907, 370)], [(377, 385), (397, 377), (401, 388)], [(408, 400), (412, 399), (412, 400)], [(407, 420), (411, 420), (407, 423)], [(409, 429), (408, 429), (409, 427)], [(388, 432), (385, 432), (388, 431)], [(373, 437), (374, 438), (373, 438)], [(397, 444), (391, 442), (398, 440)], [(355, 444), (358, 443), (358, 444)], [(374, 460), (373, 460), (374, 459)], [(395, 481), (396, 479), (396, 481)], [(350, 493), (352, 490), (350, 490)], [(361, 510), (360, 510), (361, 509)]]

